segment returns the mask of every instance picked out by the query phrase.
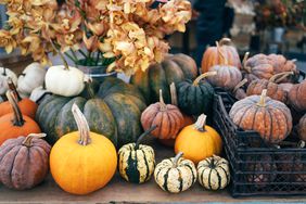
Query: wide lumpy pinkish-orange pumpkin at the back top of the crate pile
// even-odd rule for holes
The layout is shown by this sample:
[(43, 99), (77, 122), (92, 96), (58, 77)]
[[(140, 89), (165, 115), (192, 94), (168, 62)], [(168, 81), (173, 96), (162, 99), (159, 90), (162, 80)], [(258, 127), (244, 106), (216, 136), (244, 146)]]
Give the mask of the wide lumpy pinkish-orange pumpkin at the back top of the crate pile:
[(294, 64), (295, 61), (286, 60), (283, 55), (279, 54), (256, 54), (248, 59), (248, 52), (245, 53), (243, 60), (243, 72), (244, 77), (247, 78), (250, 82), (255, 79), (269, 80), (273, 75), (283, 72), (293, 72), (294, 75), (283, 78), (281, 82), (296, 81), (298, 71)]

